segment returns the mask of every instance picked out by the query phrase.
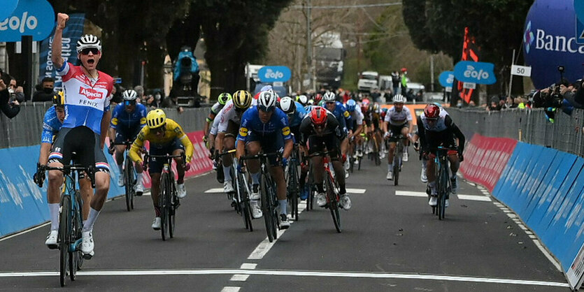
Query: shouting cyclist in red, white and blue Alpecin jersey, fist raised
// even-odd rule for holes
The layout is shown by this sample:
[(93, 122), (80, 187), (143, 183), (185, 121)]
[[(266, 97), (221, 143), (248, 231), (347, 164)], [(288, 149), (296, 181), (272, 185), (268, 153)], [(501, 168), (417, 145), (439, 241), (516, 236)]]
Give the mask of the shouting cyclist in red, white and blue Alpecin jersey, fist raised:
[[(71, 153), (77, 153), (77, 163), (96, 168), (95, 194), (91, 199), (90, 212), (81, 232), (81, 252), (89, 259), (94, 255), (93, 226), (101, 207), (104, 206), (110, 188), (110, 169), (103, 152), (108, 126), (111, 120), (110, 99), (113, 78), (97, 71), (101, 59), (101, 41), (97, 36), (86, 34), (77, 42), (80, 66), (66, 62), (62, 57), (62, 34), (69, 15), (57, 14), (57, 26), (52, 41), (51, 60), (62, 76), (65, 92), (65, 119), (49, 155), (49, 166), (63, 167), (71, 161)], [(48, 193), (58, 198), (63, 184), (63, 173), (49, 171)], [(49, 203), (59, 203), (50, 201)]]

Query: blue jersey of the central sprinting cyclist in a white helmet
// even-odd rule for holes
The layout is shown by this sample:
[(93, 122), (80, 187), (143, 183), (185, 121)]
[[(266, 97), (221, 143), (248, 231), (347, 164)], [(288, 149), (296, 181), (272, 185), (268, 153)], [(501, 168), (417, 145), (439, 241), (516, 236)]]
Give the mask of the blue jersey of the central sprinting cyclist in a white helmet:
[(257, 110), (257, 105), (248, 110), (245, 110), (243, 117), (241, 117), (241, 128), (239, 128), (239, 134), (237, 140), (245, 141), (249, 137), (249, 133), (253, 132), (255, 136), (273, 136), (277, 131), (281, 131), (284, 140), (292, 139), (290, 135), (290, 126), (288, 125), (288, 116), (276, 108), (269, 119), (269, 121), (264, 124), (262, 120), (259, 119), (259, 112)]

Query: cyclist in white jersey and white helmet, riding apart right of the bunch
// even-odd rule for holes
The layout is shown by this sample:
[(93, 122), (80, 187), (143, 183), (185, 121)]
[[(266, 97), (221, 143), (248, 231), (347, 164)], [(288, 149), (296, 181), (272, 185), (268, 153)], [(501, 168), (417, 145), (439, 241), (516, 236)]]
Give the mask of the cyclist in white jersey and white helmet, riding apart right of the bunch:
[[(393, 156), (395, 154), (396, 143), (399, 143), (397, 137), (401, 134), (410, 138), (413, 132), (413, 118), (410, 109), (404, 105), (406, 98), (401, 94), (393, 96), (393, 106), (387, 110), (383, 122), (383, 138), (390, 141), (390, 151), (387, 153), (387, 180), (393, 180)], [(404, 147), (408, 145), (408, 140), (404, 140)], [(404, 151), (403, 161), (408, 161), (408, 152)]]

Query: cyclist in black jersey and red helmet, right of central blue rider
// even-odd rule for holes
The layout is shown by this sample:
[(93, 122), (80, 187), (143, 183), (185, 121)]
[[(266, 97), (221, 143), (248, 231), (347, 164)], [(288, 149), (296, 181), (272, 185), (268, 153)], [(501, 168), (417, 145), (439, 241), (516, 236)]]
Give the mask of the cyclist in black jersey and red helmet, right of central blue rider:
[[(301, 145), (307, 145), (308, 154), (315, 152), (322, 152), (325, 147), (329, 151), (331, 157), (334, 173), (337, 182), (339, 182), (339, 194), (341, 195), (341, 207), (345, 210), (351, 208), (351, 200), (346, 194), (345, 176), (343, 175), (343, 163), (341, 159), (341, 141), (346, 139), (346, 132), (341, 129), (341, 124), (334, 117), (334, 115), (320, 106), (315, 107), (302, 120), (300, 126)], [(304, 146), (303, 146), (304, 147)], [(314, 181), (318, 189), (316, 195), (316, 203), (320, 207), (327, 205), (327, 197), (325, 196), (325, 189), (322, 186), (324, 180), (323, 174), (325, 170), (322, 165), (322, 156), (314, 156), (312, 158), (312, 166), (314, 171)]]

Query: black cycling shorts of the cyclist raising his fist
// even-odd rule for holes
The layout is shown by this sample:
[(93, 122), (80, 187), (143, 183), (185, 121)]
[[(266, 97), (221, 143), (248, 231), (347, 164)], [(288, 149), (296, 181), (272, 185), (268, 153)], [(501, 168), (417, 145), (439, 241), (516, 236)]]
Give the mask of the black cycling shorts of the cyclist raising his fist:
[(52, 145), (49, 163), (67, 165), (71, 163), (71, 154), (76, 152), (76, 164), (84, 167), (95, 166), (97, 171), (110, 173), (106, 154), (100, 146), (99, 136), (87, 126), (61, 128)]

